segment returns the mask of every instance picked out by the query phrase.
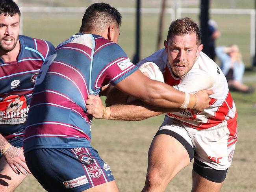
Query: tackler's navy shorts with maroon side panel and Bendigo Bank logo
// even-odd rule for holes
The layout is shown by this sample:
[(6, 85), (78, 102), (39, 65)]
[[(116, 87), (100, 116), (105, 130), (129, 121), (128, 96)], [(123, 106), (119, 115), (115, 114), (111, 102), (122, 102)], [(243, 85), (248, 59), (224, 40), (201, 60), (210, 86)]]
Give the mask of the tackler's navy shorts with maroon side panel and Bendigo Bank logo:
[(80, 192), (113, 181), (93, 148), (40, 149), (25, 153), (30, 171), (48, 191)]

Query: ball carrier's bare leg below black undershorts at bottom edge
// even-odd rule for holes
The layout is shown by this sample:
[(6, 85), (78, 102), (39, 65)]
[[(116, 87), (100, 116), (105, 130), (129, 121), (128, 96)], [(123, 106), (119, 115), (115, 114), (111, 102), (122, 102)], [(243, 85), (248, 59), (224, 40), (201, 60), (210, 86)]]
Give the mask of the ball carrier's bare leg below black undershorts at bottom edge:
[(216, 183), (213, 181), (209, 181), (208, 179), (202, 177), (197, 172), (193, 170), (193, 186), (191, 192), (219, 192), (223, 185), (223, 182)]

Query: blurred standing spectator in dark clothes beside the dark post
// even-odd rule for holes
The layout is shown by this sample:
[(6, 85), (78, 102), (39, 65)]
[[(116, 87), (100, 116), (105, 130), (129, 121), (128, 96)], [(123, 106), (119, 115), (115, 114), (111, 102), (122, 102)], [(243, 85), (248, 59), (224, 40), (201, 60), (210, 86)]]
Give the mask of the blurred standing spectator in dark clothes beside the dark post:
[(208, 20), (209, 26), (209, 54), (208, 56), (214, 61), (215, 59), (215, 40), (221, 36), (221, 32), (218, 30), (217, 23), (213, 19)]

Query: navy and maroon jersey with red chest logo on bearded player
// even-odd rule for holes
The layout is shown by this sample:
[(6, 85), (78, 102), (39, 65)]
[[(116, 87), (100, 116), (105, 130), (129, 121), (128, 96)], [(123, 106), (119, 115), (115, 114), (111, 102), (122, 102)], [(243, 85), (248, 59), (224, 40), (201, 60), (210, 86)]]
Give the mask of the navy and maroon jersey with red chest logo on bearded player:
[(23, 137), (35, 79), (54, 50), (50, 42), (24, 35), (19, 35), (19, 42), (16, 61), (0, 57), (0, 133), (8, 141)]

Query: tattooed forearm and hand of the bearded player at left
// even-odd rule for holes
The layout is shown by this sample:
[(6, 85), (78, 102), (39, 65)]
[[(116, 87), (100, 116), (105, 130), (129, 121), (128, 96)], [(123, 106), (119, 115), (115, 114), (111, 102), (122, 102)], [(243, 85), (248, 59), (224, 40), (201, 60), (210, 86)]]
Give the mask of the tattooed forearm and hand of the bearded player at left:
[(9, 142), (0, 134), (0, 150), (6, 162), (12, 168), (16, 174), (22, 173), (27, 175), (30, 173), (28, 166), (26, 165), (25, 157), (23, 155), (23, 150), (11, 146)]

